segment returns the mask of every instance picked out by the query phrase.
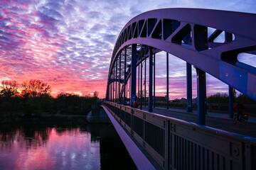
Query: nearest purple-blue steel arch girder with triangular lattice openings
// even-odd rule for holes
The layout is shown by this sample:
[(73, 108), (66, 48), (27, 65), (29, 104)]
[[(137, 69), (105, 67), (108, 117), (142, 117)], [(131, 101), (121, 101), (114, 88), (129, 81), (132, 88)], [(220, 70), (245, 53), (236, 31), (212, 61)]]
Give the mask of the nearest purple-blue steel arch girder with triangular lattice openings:
[[(176, 30), (166, 32), (167, 21), (180, 22), (180, 25)], [(256, 100), (256, 69), (237, 60), (240, 52), (254, 53), (253, 50), (256, 50), (255, 21), (256, 15), (252, 13), (207, 9), (169, 8), (142, 13), (132, 18), (119, 34), (110, 72), (116, 54), (125, 46), (149, 45), (195, 65)], [(132, 23), (138, 29), (132, 30)], [(142, 26), (140, 23), (143, 23)], [(207, 41), (201, 36), (205, 34), (202, 31), (208, 31), (207, 27), (224, 30), (229, 36), (223, 43), (215, 43), (211, 39)], [(191, 40), (186, 33), (191, 33)], [(235, 35), (235, 39), (230, 41), (231, 34)], [(213, 39), (214, 36), (211, 37)]]

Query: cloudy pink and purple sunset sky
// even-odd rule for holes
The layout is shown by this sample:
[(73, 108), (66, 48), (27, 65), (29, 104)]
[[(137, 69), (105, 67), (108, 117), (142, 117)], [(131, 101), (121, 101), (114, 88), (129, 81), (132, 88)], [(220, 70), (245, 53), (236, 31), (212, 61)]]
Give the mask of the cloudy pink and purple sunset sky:
[[(134, 16), (156, 8), (210, 8), (256, 13), (255, 0), (0, 0), (0, 81), (41, 79), (51, 94), (105, 97), (114, 43)], [(164, 54), (157, 54), (159, 58)], [(171, 56), (170, 96), (186, 96), (186, 63)], [(159, 66), (163, 60), (156, 60)], [(165, 92), (164, 67), (156, 73), (156, 94)], [(193, 69), (193, 96), (196, 95)], [(228, 86), (207, 77), (207, 94)], [(156, 96), (157, 96), (156, 95)]]

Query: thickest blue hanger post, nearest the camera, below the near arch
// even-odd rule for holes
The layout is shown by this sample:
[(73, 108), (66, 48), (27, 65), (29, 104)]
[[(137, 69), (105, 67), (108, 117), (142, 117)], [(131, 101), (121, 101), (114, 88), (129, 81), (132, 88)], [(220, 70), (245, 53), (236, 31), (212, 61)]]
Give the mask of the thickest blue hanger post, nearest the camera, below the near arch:
[(206, 125), (206, 72), (196, 68), (197, 73), (197, 122)]

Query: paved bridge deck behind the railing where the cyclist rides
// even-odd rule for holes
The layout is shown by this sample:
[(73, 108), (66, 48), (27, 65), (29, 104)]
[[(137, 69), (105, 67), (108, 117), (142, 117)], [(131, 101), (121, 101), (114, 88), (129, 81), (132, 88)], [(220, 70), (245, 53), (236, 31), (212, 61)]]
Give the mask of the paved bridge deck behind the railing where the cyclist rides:
[[(143, 107), (144, 108), (144, 107)], [(161, 109), (163, 111), (167, 111), (166, 108), (164, 107), (155, 107), (156, 109)], [(177, 113), (184, 113), (184, 114), (193, 114), (193, 115), (197, 115), (197, 111), (193, 111), (191, 113), (188, 113), (186, 110), (184, 109), (179, 109), (179, 108), (169, 108), (168, 111), (172, 111), (172, 112), (177, 112)], [(207, 112), (206, 117), (209, 118), (222, 118), (222, 119), (228, 119), (228, 120), (232, 120), (232, 118), (229, 118), (228, 113), (215, 113), (215, 112)], [(249, 115), (249, 119), (248, 119), (248, 123), (255, 123), (256, 124), (256, 117), (255, 116), (251, 116)]]

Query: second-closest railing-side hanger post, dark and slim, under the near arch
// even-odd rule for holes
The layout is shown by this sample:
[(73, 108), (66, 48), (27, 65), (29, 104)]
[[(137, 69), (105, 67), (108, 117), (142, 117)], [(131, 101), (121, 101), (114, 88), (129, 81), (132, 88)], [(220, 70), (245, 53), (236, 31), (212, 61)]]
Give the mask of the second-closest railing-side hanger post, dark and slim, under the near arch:
[(152, 48), (149, 47), (149, 112), (153, 111), (152, 86), (153, 86), (153, 51), (152, 51)]

